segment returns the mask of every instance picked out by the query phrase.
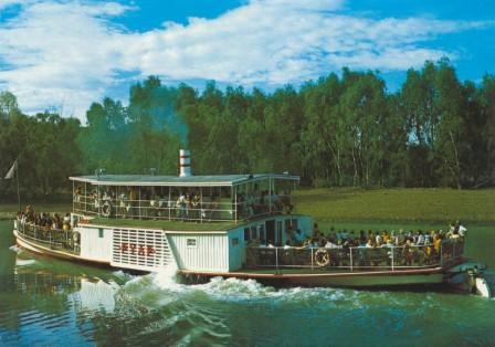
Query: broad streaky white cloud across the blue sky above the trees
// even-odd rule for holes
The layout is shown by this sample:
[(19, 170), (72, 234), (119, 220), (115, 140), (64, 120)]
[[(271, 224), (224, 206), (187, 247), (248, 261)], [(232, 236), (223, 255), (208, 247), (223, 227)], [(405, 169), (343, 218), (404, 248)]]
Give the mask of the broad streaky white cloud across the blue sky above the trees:
[(0, 0), (0, 10), (14, 2), (21, 13), (0, 22), (0, 88), (27, 112), (63, 105), (81, 118), (122, 71), (244, 85), (297, 83), (343, 66), (400, 71), (455, 59), (424, 43), (487, 24), (343, 15), (344, 0), (252, 0), (215, 19), (129, 32), (112, 19), (137, 9), (116, 2)]

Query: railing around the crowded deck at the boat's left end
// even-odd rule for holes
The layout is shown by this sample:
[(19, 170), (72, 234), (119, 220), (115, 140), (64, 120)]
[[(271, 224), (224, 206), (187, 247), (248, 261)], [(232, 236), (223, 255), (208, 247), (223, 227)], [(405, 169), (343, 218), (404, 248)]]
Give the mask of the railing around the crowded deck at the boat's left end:
[(49, 229), (17, 219), (15, 230), (23, 239), (51, 250), (70, 252), (72, 254), (81, 253), (78, 233), (75, 234), (72, 229)]

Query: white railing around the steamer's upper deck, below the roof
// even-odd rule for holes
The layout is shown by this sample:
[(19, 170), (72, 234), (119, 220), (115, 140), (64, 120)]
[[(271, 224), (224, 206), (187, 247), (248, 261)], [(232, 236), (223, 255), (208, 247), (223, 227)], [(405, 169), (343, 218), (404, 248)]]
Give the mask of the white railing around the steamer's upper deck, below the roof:
[(293, 206), (285, 196), (268, 198), (265, 203), (253, 203), (231, 202), (225, 198), (213, 201), (204, 198), (200, 201), (186, 202), (175, 199), (129, 200), (77, 194), (74, 196), (73, 210), (75, 213), (119, 219), (215, 222), (246, 220), (271, 213), (291, 213)]

